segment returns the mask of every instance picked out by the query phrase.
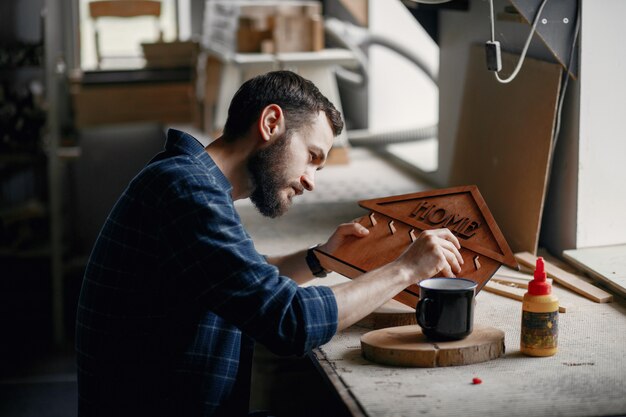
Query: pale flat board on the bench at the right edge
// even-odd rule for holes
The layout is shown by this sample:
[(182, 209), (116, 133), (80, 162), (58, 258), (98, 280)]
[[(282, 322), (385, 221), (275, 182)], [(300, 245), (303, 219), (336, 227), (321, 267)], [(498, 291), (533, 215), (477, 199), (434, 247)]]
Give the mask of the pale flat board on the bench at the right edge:
[(566, 250), (563, 258), (626, 297), (626, 245)]

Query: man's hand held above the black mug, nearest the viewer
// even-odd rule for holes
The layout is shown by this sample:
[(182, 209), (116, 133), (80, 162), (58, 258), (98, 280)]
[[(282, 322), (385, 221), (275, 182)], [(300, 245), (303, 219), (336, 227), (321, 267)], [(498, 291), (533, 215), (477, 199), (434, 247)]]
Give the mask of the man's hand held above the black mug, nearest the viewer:
[(440, 272), (454, 277), (463, 265), (460, 249), (459, 240), (450, 230), (425, 230), (395, 262), (413, 271), (415, 283)]

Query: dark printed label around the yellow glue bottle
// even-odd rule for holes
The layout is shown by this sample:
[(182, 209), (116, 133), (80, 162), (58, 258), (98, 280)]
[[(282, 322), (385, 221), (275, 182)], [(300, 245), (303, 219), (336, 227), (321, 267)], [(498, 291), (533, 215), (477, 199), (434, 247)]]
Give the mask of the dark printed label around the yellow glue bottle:
[(522, 312), (522, 347), (530, 349), (556, 348), (559, 334), (559, 312)]

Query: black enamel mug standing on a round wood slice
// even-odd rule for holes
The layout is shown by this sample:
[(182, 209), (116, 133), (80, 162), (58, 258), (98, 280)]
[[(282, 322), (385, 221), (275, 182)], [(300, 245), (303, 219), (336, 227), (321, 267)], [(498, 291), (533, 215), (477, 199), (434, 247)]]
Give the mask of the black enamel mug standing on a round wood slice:
[(430, 278), (419, 283), (415, 308), (422, 333), (432, 340), (459, 340), (472, 333), (476, 283), (464, 278)]

